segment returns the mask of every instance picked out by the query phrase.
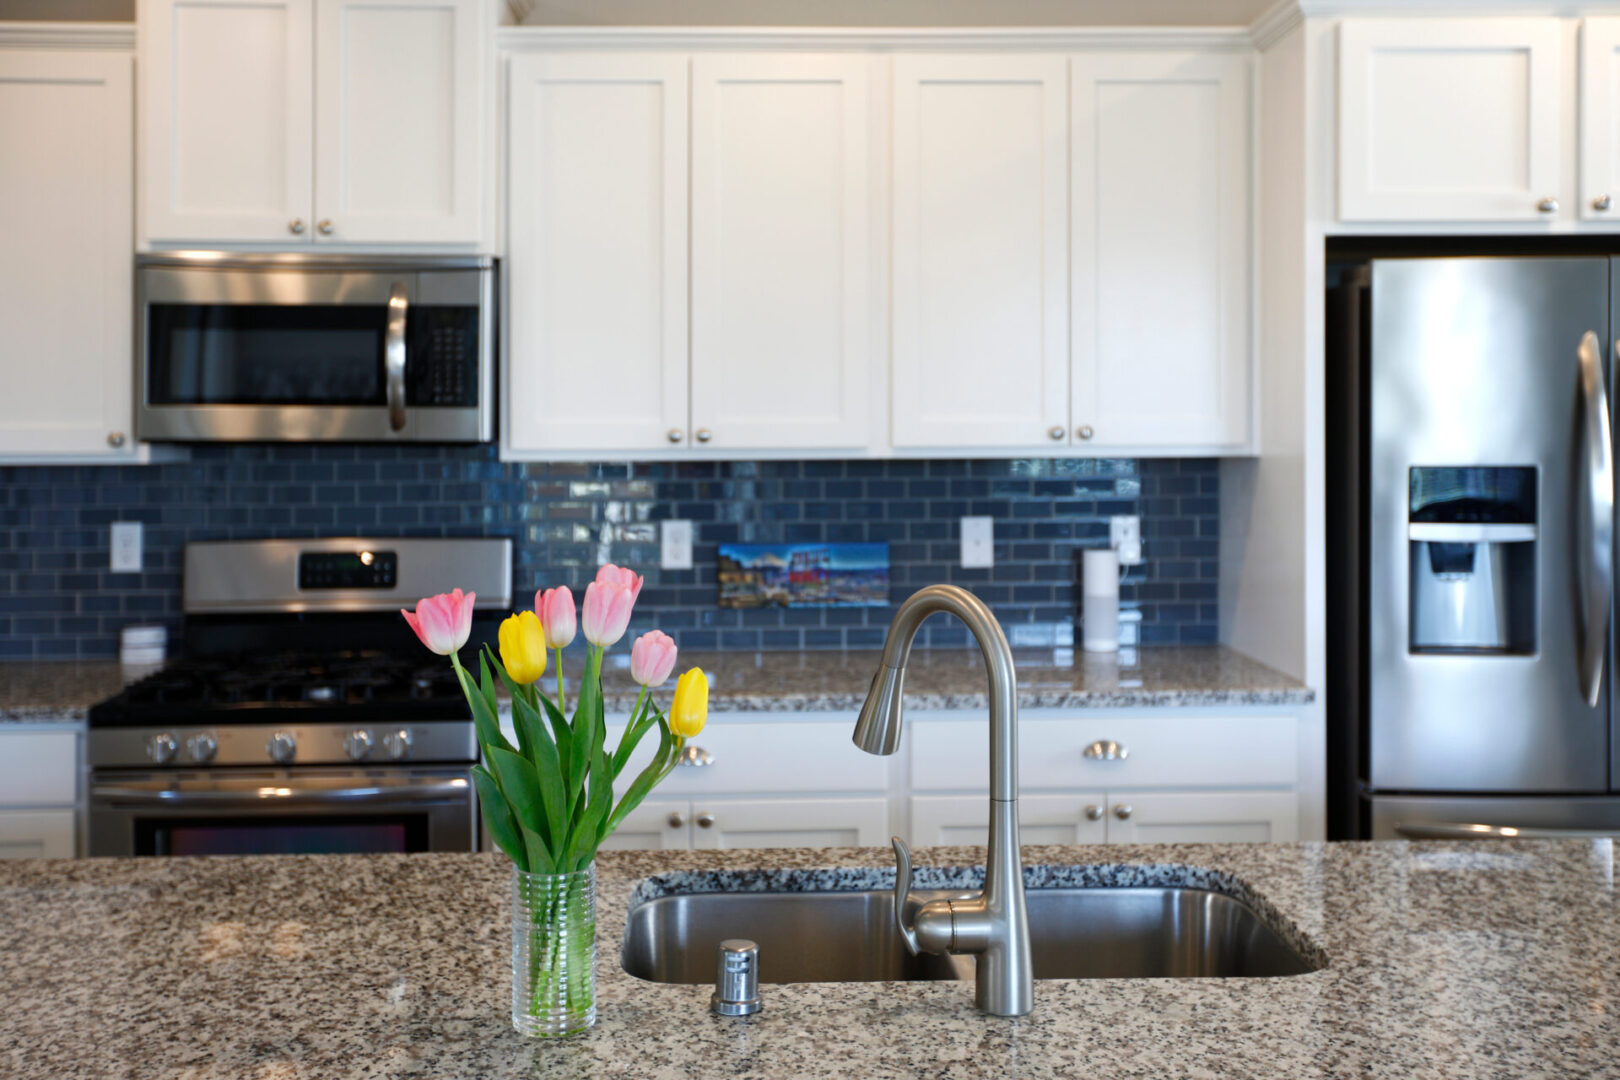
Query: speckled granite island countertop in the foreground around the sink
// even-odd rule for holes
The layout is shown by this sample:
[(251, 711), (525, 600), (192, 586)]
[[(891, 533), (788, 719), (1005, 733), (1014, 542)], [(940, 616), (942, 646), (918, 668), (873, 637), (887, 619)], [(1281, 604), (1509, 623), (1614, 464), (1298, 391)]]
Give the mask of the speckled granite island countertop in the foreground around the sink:
[[(917, 852), (919, 884), (977, 848)], [(1038, 981), (1017, 1020), (972, 983), (708, 986), (617, 963), (632, 892), (888, 886), (867, 848), (603, 853), (598, 1022), (510, 1028), (497, 855), (0, 865), (0, 1072), (16, 1077), (1614, 1077), (1620, 920), (1596, 842), (1027, 847), (1027, 879), (1251, 899), (1320, 970)], [(1061, 870), (1082, 865), (1084, 870)], [(760, 868), (765, 873), (747, 873)], [(842, 870), (839, 870), (842, 868)], [(878, 870), (885, 868), (885, 870)], [(815, 871), (808, 874), (794, 871)], [(648, 882), (650, 876), (658, 879)]]

